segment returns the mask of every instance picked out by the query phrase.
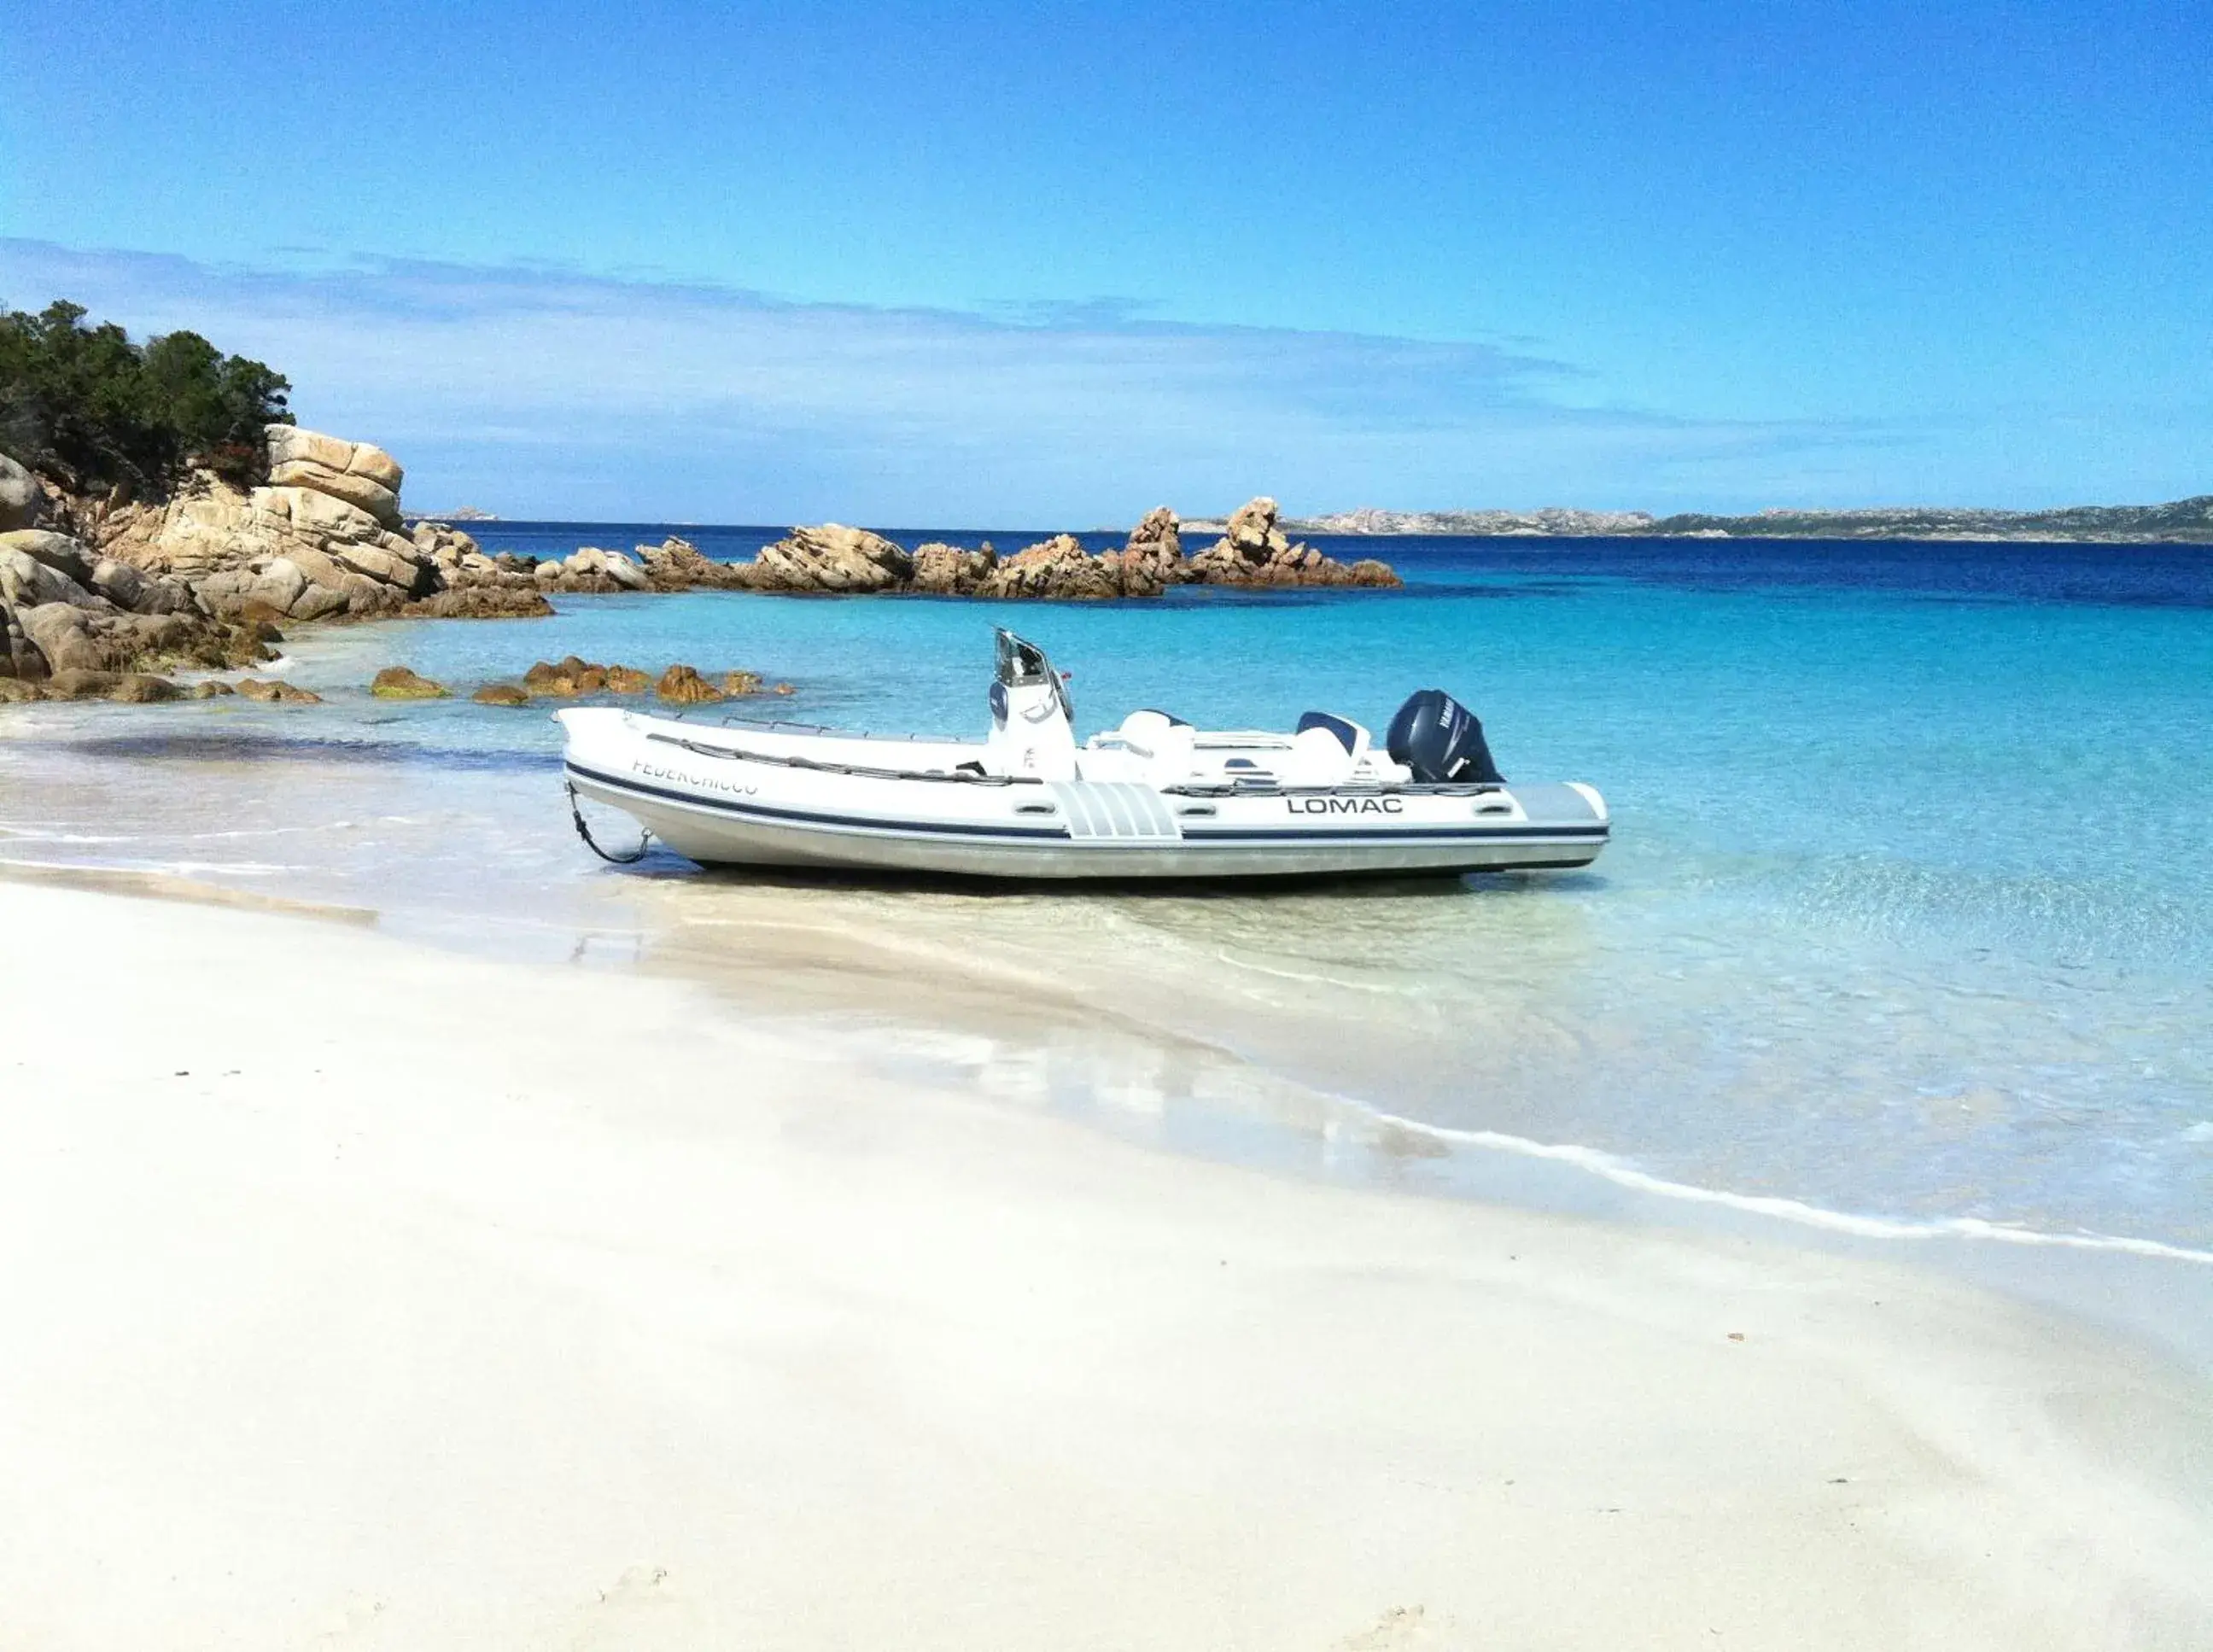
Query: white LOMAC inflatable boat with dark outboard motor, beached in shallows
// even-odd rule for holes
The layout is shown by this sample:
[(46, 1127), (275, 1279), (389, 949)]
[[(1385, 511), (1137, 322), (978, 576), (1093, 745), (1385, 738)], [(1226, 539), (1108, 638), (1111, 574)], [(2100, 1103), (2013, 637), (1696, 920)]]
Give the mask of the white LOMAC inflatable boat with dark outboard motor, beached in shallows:
[(1332, 712), (1272, 734), (1142, 710), (1078, 743), (1062, 675), (1009, 630), (983, 741), (555, 717), (571, 807), (609, 803), (706, 865), (1025, 880), (1527, 871), (1587, 867), (1609, 829), (1580, 781), (1500, 778), (1483, 725), (1434, 688), (1399, 708), (1383, 750)]

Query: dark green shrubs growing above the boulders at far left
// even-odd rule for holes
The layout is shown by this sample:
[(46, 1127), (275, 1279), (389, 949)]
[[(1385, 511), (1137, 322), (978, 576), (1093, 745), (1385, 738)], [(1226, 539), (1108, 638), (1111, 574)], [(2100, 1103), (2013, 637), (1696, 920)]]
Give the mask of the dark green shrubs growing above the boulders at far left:
[(135, 345), (62, 299), (0, 318), (0, 451), (73, 489), (159, 491), (193, 464), (243, 478), (261, 427), (292, 422), (290, 389), (197, 332)]

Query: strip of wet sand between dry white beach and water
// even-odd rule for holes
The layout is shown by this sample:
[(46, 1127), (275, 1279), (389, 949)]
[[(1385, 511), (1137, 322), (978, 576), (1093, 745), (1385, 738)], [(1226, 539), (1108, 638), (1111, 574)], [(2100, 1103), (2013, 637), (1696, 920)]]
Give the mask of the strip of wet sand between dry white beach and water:
[[(569, 918), (533, 938), (148, 869), (0, 858), (0, 893), (11, 885), (372, 929), (491, 966), (544, 966), (564, 953), (595, 977), (704, 993), (719, 1013), (757, 1031), (806, 1028), (887, 1084), (976, 1086), (998, 1106), (1053, 1115), (1142, 1150), (1310, 1185), (1925, 1272), (2120, 1334), (2213, 1376), (2206, 1250), (1978, 1216), (1859, 1212), (1671, 1179), (1607, 1148), (1412, 1119), (1188, 1026), (1040, 986), (983, 958), (949, 975), (938, 947), (901, 947), (850, 922), (823, 924), (801, 907), (781, 918), (748, 913), (750, 947), (739, 955), (693, 944), (682, 931), (653, 931), (648, 911), (631, 913), (637, 929), (591, 929)], [(682, 900), (682, 880), (655, 887), (648, 905), (655, 898)], [(901, 993), (898, 1006), (854, 1004), (876, 991)]]

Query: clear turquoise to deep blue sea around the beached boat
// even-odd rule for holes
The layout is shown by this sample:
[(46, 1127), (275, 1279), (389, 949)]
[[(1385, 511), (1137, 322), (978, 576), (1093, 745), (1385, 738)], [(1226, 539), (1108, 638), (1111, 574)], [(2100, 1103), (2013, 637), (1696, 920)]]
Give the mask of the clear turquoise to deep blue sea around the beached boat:
[[(540, 555), (664, 533), (750, 555), (779, 533), (474, 531)], [(580, 597), (547, 621), (303, 635), (290, 672), (323, 708), (11, 714), (0, 856), (540, 951), (682, 929), (768, 955), (803, 918), (890, 949), (910, 982), (1051, 984), (1438, 1152), (1514, 1139), (1874, 1225), (2213, 1250), (2213, 548), (1317, 544), (1383, 555), (1407, 588)], [(549, 721), (363, 692), (392, 661), (467, 688), (567, 652), (682, 659), (790, 681), (775, 710), (803, 721), (980, 732), (994, 624), (1073, 672), (1084, 732), (1137, 705), (1381, 725), (1445, 688), (1509, 778), (1598, 785), (1615, 840), (1587, 874), (1235, 896), (790, 889), (668, 856), (613, 871), (569, 836)], [(850, 982), (843, 1008), (918, 1002), (901, 971)]]

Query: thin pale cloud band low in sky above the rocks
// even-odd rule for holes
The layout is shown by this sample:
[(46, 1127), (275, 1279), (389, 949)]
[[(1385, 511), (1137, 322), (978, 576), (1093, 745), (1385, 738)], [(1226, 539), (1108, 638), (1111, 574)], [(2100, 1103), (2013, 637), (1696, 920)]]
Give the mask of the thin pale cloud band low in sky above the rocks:
[(254, 270), (35, 241), (0, 241), (0, 296), (261, 356), (303, 422), (394, 449), (409, 502), (509, 515), (1051, 524), (1257, 491), (1308, 511), (1638, 504), (1908, 440), (1565, 405), (1589, 372), (1520, 341), (1211, 327), (1122, 299), (967, 314), (551, 265)]

